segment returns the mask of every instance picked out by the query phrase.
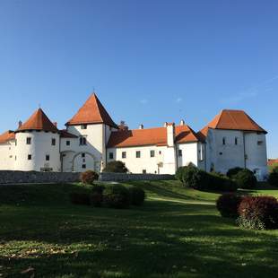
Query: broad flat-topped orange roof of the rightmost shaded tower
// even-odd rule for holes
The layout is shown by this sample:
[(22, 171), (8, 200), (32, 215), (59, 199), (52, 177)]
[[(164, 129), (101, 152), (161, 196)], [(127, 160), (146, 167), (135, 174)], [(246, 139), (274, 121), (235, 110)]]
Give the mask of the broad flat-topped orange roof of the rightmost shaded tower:
[(243, 110), (222, 110), (207, 126), (204, 126), (198, 135), (205, 138), (209, 128), (255, 131), (267, 134), (265, 129), (258, 126)]

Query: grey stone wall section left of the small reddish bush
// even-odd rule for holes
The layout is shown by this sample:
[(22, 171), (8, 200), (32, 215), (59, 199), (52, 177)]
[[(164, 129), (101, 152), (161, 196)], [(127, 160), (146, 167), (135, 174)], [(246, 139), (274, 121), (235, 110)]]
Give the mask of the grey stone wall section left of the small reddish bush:
[(0, 184), (66, 183), (78, 181), (80, 173), (0, 170)]

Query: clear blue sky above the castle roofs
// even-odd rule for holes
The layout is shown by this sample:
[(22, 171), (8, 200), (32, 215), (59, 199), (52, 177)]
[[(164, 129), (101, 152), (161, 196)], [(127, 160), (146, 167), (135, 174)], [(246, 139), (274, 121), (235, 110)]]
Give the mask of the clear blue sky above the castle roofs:
[(39, 104), (59, 127), (93, 88), (131, 128), (195, 130), (245, 109), (278, 157), (278, 2), (1, 0), (1, 132)]

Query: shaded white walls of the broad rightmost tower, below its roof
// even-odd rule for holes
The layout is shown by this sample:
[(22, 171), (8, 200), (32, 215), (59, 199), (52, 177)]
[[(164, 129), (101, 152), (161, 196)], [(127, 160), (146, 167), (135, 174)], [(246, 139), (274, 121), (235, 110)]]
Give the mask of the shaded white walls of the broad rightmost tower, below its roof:
[(241, 167), (254, 171), (260, 180), (266, 177), (265, 134), (209, 129), (206, 143), (207, 170), (226, 174), (231, 168)]

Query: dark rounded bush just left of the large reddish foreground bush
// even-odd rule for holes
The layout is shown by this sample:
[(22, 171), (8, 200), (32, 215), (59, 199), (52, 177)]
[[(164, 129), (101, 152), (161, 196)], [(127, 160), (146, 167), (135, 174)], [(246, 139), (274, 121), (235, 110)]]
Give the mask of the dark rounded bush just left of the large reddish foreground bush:
[(239, 217), (239, 204), (242, 196), (233, 193), (221, 195), (216, 201), (216, 207), (223, 217)]

